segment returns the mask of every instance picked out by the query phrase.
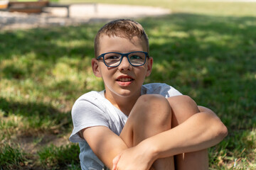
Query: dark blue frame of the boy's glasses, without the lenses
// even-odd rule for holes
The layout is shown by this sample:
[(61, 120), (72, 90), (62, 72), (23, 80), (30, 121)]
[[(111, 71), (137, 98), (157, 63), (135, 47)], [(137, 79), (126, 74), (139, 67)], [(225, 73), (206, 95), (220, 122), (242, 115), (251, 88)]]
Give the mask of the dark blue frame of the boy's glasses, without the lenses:
[[(140, 65), (134, 65), (134, 64), (132, 64), (132, 63), (129, 61), (129, 57), (128, 57), (128, 55), (129, 55), (129, 54), (132, 54), (132, 53), (134, 53), (134, 52), (142, 52), (142, 53), (144, 53), (144, 55), (146, 55), (146, 57), (145, 57), (145, 60), (144, 60), (144, 63), (143, 63), (143, 64), (140, 64)], [(127, 57), (127, 60), (128, 60), (128, 62), (129, 62), (129, 64), (131, 64), (133, 67), (143, 66), (143, 65), (146, 63), (146, 58), (149, 58), (149, 53), (148, 53), (148, 52), (143, 52), (143, 51), (134, 51), (134, 52), (128, 52), (128, 53), (121, 53), (121, 52), (106, 52), (106, 53), (103, 53), (103, 54), (99, 55), (99, 56), (96, 58), (96, 60), (100, 60), (100, 58), (103, 58), (103, 62), (104, 62), (104, 64), (105, 64), (107, 67), (118, 67), (118, 66), (119, 66), (119, 64), (121, 64), (121, 62), (122, 62), (123, 58), (124, 58), (124, 57)], [(108, 65), (106, 64), (106, 62), (105, 62), (105, 55), (110, 54), (110, 53), (116, 53), (116, 54), (121, 55), (121, 60), (120, 60), (119, 64), (117, 64), (116, 66), (108, 66)]]

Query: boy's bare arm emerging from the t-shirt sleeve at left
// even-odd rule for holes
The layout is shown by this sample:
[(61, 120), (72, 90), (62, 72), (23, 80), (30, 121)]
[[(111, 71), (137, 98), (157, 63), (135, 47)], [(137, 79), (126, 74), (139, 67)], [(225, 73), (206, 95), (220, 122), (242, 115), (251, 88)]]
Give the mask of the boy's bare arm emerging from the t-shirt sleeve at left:
[(92, 151), (108, 168), (112, 168), (112, 159), (127, 149), (123, 140), (105, 126), (95, 126), (80, 130)]

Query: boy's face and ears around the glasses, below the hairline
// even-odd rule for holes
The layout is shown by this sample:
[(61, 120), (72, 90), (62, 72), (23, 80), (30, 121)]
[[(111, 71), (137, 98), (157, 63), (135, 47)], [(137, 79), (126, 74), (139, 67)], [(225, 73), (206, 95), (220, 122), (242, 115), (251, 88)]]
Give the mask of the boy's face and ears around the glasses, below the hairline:
[[(134, 51), (146, 52), (146, 43), (137, 36), (132, 40), (117, 36), (104, 35), (100, 38), (99, 55), (106, 52), (128, 53)], [(117, 67), (107, 67), (102, 58), (92, 59), (92, 69), (97, 77), (102, 77), (107, 96), (139, 96), (145, 77), (151, 73), (153, 59), (149, 57), (146, 63), (139, 67), (129, 64), (127, 57)], [(108, 98), (109, 99), (109, 98)]]

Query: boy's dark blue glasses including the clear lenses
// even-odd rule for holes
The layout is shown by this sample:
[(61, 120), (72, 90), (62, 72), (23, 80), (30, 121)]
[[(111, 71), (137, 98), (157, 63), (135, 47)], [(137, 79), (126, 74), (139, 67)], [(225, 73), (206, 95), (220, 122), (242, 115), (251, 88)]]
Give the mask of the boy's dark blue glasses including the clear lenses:
[(107, 52), (99, 55), (96, 59), (100, 60), (100, 58), (103, 58), (103, 62), (107, 67), (117, 67), (124, 57), (127, 57), (129, 64), (137, 67), (145, 64), (146, 57), (149, 57), (149, 54), (141, 51), (128, 53)]

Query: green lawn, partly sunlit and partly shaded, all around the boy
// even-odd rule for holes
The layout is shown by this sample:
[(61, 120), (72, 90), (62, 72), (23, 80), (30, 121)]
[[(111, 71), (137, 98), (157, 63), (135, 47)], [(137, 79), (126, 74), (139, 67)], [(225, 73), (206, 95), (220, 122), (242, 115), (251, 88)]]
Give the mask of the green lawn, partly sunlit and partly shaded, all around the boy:
[[(108, 2), (173, 11), (137, 19), (154, 57), (146, 83), (171, 84), (223, 120), (229, 135), (209, 149), (211, 169), (256, 169), (256, 3)], [(103, 24), (0, 30), (0, 169), (80, 169), (70, 110), (103, 89), (90, 68)]]

